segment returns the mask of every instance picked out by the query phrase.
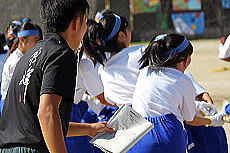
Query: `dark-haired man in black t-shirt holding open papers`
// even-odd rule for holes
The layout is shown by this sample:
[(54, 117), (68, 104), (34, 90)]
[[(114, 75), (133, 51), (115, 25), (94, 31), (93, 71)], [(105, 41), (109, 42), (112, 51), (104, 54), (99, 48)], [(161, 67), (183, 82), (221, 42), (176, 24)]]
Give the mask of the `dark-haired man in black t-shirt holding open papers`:
[(86, 0), (42, 0), (44, 40), (18, 62), (2, 118), (0, 152), (66, 153), (65, 136), (113, 131), (106, 123), (69, 123), (76, 50), (86, 31)]

